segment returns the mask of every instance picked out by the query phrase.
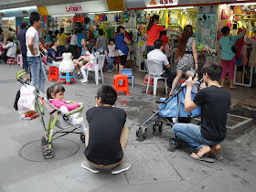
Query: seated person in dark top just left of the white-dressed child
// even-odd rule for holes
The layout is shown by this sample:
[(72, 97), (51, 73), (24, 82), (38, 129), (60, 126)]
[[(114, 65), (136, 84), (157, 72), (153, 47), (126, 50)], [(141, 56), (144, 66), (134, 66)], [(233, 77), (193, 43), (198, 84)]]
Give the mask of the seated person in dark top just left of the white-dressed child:
[(48, 48), (48, 65), (50, 67), (58, 67), (61, 63), (62, 56), (58, 56), (58, 47), (59, 47), (59, 40), (57, 38), (54, 38), (52, 40), (52, 47)]

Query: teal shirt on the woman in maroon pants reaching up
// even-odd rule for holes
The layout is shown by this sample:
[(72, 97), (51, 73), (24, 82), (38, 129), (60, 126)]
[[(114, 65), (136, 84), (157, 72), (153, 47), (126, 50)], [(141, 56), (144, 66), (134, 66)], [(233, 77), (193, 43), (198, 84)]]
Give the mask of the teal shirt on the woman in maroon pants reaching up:
[(240, 37), (243, 37), (243, 34), (240, 34), (238, 36), (221, 37), (219, 39), (219, 46), (221, 48), (221, 59), (231, 60), (236, 56), (236, 54), (232, 51), (231, 47), (235, 45)]

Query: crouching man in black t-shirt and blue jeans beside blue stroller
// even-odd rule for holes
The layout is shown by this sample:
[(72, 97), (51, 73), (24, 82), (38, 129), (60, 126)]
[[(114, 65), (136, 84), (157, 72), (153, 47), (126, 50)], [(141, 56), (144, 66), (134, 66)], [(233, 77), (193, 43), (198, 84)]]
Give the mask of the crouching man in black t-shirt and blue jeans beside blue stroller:
[(191, 112), (201, 106), (201, 125), (191, 123), (176, 123), (173, 127), (175, 135), (197, 150), (190, 156), (200, 161), (213, 162), (213, 159), (204, 157), (210, 153), (217, 159), (220, 143), (227, 133), (226, 123), (230, 105), (230, 95), (219, 85), (222, 68), (215, 62), (208, 62), (203, 67), (203, 78), (206, 88), (197, 92), (194, 101), (191, 101), (191, 90), (195, 81), (190, 77), (187, 82), (185, 97), (185, 111)]

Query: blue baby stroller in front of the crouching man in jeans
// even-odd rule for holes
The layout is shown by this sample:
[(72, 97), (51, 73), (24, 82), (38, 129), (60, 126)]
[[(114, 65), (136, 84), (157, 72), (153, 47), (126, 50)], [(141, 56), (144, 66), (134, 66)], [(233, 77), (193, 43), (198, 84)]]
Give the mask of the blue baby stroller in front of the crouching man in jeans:
[[(203, 80), (203, 79), (202, 79)], [(194, 100), (200, 81), (197, 81), (191, 92), (191, 99)], [(200, 107), (197, 107), (192, 112), (185, 112), (184, 101), (186, 96), (186, 83), (182, 83), (174, 91), (174, 93), (168, 98), (157, 99), (159, 110), (153, 111), (154, 114), (146, 120), (136, 131), (137, 137), (146, 137), (147, 127), (144, 125), (147, 123), (153, 123), (153, 131), (156, 129), (162, 132), (163, 124), (173, 127), (175, 123), (190, 123), (195, 117), (201, 115)], [(175, 119), (175, 121), (173, 121)], [(173, 137), (169, 141), (172, 147), (177, 147), (182, 144), (182, 141)]]

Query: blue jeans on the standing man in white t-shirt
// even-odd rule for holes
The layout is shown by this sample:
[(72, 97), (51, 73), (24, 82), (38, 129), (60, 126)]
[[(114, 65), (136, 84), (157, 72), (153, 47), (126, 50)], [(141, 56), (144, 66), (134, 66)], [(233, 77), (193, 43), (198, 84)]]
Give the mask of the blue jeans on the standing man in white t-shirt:
[(39, 91), (45, 92), (45, 80), (47, 77), (40, 57), (27, 57), (27, 63), (32, 75), (31, 85), (37, 87), (38, 83)]

